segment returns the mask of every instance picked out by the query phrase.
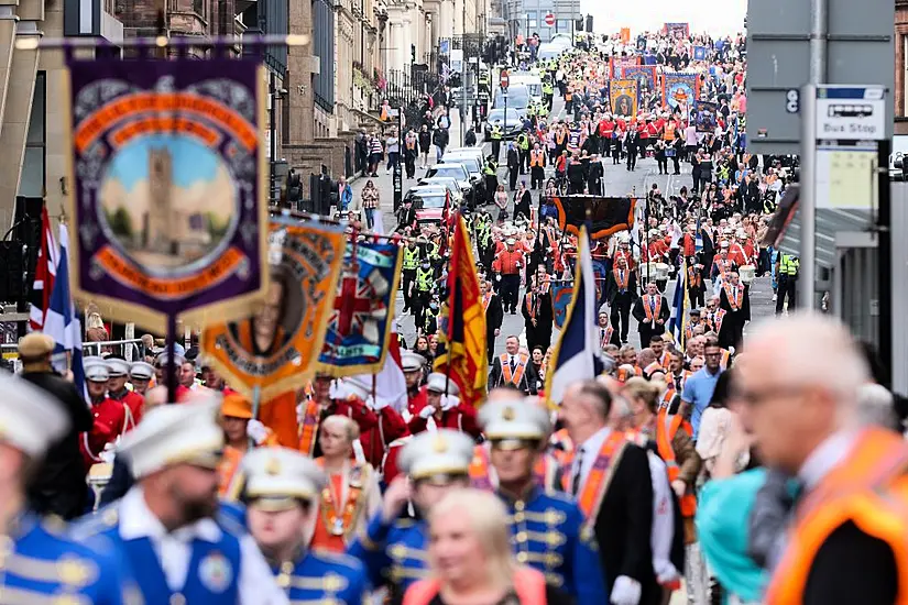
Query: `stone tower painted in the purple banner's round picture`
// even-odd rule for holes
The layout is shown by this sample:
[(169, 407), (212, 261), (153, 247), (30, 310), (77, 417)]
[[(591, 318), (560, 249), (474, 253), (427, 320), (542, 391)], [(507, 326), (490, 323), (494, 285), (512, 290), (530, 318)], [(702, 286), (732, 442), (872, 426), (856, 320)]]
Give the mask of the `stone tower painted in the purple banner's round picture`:
[(149, 211), (145, 213), (143, 246), (161, 254), (178, 254), (173, 208), (173, 158), (166, 147), (149, 150)]

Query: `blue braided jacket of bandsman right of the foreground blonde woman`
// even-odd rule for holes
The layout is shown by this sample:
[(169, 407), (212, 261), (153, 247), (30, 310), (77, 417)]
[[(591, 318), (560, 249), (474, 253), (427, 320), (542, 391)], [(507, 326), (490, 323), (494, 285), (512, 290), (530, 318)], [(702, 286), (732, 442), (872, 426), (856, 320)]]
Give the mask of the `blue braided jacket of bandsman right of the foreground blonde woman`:
[(595, 537), (583, 530), (583, 513), (572, 499), (536, 486), (524, 499), (499, 495), (508, 509), (517, 562), (543, 572), (548, 585), (578, 603), (608, 603)]

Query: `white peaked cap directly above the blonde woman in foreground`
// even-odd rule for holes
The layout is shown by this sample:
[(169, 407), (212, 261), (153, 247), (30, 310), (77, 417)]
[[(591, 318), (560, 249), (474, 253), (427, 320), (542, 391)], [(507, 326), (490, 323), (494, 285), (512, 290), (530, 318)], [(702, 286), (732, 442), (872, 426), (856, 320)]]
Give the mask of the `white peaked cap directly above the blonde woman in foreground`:
[(397, 459), (397, 468), (411, 479), (467, 474), (475, 442), (463, 432), (438, 429), (416, 435)]

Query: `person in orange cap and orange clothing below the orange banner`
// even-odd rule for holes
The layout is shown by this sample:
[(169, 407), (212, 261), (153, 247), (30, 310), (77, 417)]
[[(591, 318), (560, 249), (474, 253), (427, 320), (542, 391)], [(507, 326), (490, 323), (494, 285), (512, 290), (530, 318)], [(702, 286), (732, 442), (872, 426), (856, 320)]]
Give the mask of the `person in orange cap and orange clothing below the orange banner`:
[(256, 446), (276, 446), (274, 433), (255, 420), (252, 402), (234, 393), (221, 402), (221, 426), (223, 427), (223, 454), (218, 464), (218, 495), (237, 499), (242, 486), (242, 476), (237, 473), (245, 454)]

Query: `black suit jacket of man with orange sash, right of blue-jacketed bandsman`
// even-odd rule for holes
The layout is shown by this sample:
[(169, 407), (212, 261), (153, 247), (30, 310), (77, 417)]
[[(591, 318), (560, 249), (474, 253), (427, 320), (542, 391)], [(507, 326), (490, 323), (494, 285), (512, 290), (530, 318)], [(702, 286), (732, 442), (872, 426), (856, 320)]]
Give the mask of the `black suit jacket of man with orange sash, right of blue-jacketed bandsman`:
[(653, 572), (653, 482), (646, 451), (628, 443), (595, 518), (595, 537), (603, 573), (611, 592), (615, 580), (626, 575), (641, 583), (641, 605), (653, 601), (658, 584)]

